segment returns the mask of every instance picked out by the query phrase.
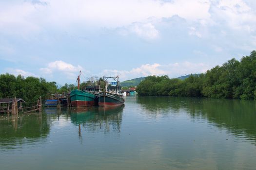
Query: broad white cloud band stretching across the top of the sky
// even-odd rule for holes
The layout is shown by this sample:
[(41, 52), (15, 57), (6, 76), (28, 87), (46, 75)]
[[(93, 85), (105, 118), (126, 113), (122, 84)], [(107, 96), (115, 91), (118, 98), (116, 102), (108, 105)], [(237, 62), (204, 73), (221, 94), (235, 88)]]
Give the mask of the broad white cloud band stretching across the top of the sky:
[(211, 26), (224, 31), (230, 31), (228, 28), (254, 33), (256, 13), (253, 9), (244, 0), (1, 1), (0, 32), (26, 38), (45, 30), (75, 30), (76, 33), (77, 30), (103, 27), (125, 28), (126, 31), (120, 34), (134, 33), (145, 39), (156, 39), (161, 34), (156, 29), (160, 22), (153, 23), (151, 18), (161, 20), (178, 16), (189, 24), (190, 35), (202, 38)]

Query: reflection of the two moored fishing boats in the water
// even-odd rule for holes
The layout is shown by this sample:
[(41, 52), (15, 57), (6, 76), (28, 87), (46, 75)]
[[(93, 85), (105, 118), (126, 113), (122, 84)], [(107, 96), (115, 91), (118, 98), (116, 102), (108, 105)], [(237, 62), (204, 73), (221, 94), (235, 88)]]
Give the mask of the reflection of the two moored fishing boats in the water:
[(71, 122), (79, 126), (79, 137), (82, 136), (81, 127), (86, 131), (112, 130), (120, 132), (123, 107), (84, 107), (70, 110)]

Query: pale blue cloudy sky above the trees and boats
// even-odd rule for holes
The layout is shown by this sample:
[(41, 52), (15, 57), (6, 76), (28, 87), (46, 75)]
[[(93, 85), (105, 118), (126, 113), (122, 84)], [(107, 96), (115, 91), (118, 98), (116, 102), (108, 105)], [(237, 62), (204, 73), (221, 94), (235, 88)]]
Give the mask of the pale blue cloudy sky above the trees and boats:
[(256, 50), (256, 0), (0, 0), (0, 74), (205, 73)]

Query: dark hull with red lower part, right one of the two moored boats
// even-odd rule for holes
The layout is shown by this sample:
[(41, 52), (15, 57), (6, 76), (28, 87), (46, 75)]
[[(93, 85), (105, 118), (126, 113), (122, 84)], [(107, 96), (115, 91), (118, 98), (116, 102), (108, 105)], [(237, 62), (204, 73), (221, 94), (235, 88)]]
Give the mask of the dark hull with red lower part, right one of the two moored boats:
[(123, 105), (124, 99), (116, 94), (101, 92), (98, 94), (99, 106), (120, 106)]

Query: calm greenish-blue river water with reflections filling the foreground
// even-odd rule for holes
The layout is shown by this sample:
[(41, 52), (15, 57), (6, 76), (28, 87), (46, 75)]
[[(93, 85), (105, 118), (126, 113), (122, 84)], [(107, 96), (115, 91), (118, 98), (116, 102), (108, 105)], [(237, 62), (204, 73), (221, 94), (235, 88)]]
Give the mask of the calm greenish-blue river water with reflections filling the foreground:
[(0, 115), (0, 170), (255, 170), (256, 102), (127, 97)]

